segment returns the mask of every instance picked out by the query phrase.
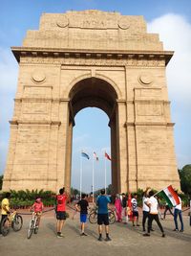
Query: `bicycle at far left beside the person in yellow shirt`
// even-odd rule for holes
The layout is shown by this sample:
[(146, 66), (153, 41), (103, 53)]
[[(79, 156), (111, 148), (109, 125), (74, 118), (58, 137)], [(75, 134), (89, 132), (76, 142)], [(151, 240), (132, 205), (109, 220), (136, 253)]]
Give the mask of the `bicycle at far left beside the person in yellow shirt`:
[(9, 234), (11, 228), (15, 232), (17, 232), (21, 230), (22, 226), (23, 226), (23, 218), (15, 210), (2, 221), (1, 233), (4, 237), (6, 237)]

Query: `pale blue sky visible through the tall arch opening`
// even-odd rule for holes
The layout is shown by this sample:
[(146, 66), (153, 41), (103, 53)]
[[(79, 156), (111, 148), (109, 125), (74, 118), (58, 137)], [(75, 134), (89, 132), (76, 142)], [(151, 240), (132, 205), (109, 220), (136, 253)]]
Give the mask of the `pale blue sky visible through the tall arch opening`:
[[(104, 157), (104, 152), (107, 151), (110, 155), (111, 150), (108, 122), (106, 113), (97, 107), (83, 108), (75, 115), (71, 181), (73, 189), (80, 191), (81, 183), (82, 192), (89, 194), (93, 190), (95, 193), (104, 188), (105, 183), (106, 187), (111, 184), (111, 161)], [(86, 152), (90, 159), (81, 157), (81, 151)]]

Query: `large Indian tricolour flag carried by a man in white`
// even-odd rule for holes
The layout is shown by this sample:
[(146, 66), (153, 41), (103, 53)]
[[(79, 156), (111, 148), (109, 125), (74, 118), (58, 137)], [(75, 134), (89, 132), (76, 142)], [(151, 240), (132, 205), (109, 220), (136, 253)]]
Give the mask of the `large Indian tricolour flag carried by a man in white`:
[(172, 185), (168, 186), (167, 188), (161, 190), (159, 192), (159, 196), (165, 199), (170, 207), (176, 206), (180, 204), (180, 199), (177, 193), (172, 188)]

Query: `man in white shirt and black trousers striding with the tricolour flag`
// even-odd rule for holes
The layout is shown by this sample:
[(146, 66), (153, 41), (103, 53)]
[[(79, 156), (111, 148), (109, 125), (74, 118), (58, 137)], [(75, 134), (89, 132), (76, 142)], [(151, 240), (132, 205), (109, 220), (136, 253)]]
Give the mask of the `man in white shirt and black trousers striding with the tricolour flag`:
[(158, 215), (158, 200), (154, 197), (153, 190), (151, 190), (149, 192), (149, 198), (145, 203), (150, 208), (150, 212), (149, 212), (149, 216), (148, 216), (148, 231), (147, 231), (147, 233), (143, 234), (143, 236), (150, 237), (152, 222), (153, 222), (153, 220), (155, 220), (159, 225), (159, 229), (162, 234), (161, 236), (162, 236), (162, 238), (164, 238), (165, 233), (164, 233), (163, 227), (159, 221), (159, 215)]

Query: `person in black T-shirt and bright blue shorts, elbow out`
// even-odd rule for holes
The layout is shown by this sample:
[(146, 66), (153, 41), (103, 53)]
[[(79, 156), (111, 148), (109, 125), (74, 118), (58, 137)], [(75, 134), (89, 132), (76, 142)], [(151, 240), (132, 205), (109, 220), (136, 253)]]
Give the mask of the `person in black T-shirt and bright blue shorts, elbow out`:
[(86, 200), (86, 195), (82, 194), (81, 200), (79, 200), (75, 204), (75, 209), (80, 212), (80, 222), (81, 222), (81, 236), (87, 236), (87, 234), (84, 232), (85, 223), (87, 221), (87, 214), (88, 214), (88, 206), (89, 203)]

